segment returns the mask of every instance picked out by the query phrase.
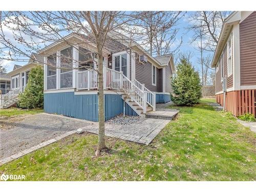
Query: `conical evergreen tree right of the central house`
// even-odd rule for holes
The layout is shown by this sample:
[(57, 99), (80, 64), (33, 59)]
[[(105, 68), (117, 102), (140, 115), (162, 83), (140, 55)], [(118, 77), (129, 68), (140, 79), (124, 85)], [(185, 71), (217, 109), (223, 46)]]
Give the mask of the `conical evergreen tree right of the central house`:
[(176, 105), (191, 106), (199, 103), (202, 96), (199, 74), (186, 58), (181, 58), (177, 67), (177, 76), (172, 80), (172, 101)]

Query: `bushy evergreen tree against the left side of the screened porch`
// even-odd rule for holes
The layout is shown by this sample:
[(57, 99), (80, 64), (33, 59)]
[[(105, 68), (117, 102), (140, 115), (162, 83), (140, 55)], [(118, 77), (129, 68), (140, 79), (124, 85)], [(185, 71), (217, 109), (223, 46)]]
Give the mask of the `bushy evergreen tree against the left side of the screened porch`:
[(37, 66), (29, 72), (29, 79), (24, 93), (19, 95), (21, 108), (42, 108), (44, 106), (44, 70)]

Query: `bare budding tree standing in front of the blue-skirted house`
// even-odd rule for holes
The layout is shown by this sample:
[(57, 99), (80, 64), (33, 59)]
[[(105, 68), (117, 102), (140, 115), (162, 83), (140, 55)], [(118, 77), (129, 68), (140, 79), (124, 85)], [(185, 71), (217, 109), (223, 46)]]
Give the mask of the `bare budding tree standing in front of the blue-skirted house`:
[[(117, 52), (122, 49), (112, 46), (114, 50), (110, 50), (105, 45), (111, 39), (110, 32), (117, 34), (125, 31), (125, 26), (138, 19), (137, 15), (120, 11), (14, 11), (2, 12), (1, 16), (0, 44), (2, 53), (0, 57), (2, 59), (12, 61), (33, 59), (54, 70), (92, 69), (98, 73), (99, 135), (96, 155), (99, 155), (100, 151), (105, 148), (103, 56), (106, 56), (107, 52)], [(141, 19), (143, 18), (141, 17)], [(76, 34), (81, 40), (64, 38), (69, 33)], [(124, 35), (119, 35), (119, 38), (117, 40), (131, 40), (130, 37)], [(52, 42), (59, 42), (63, 47), (75, 48), (79, 54), (84, 55), (85, 59), (83, 61), (72, 60), (74, 58), (69, 50), (66, 50), (65, 53), (57, 52), (57, 54), (51, 55), (47, 62), (31, 55), (32, 52), (41, 52), (42, 48)], [(96, 49), (89, 51), (92, 43), (96, 45)], [(79, 49), (79, 46), (84, 49)], [(96, 68), (93, 68), (88, 62), (94, 62), (95, 54), (97, 63)], [(57, 59), (63, 61), (61, 62), (63, 65), (57, 66)], [(77, 63), (75, 67), (74, 62)]]

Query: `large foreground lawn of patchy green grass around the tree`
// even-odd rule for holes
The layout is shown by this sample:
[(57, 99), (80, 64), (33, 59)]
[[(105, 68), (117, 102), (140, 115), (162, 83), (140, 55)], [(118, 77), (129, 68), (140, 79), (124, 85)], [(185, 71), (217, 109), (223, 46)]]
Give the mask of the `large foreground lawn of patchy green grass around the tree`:
[[(179, 108), (149, 146), (107, 138), (95, 157), (97, 135), (72, 135), (0, 167), (26, 180), (255, 180), (256, 135), (204, 99)], [(170, 106), (172, 108), (172, 106)]]

